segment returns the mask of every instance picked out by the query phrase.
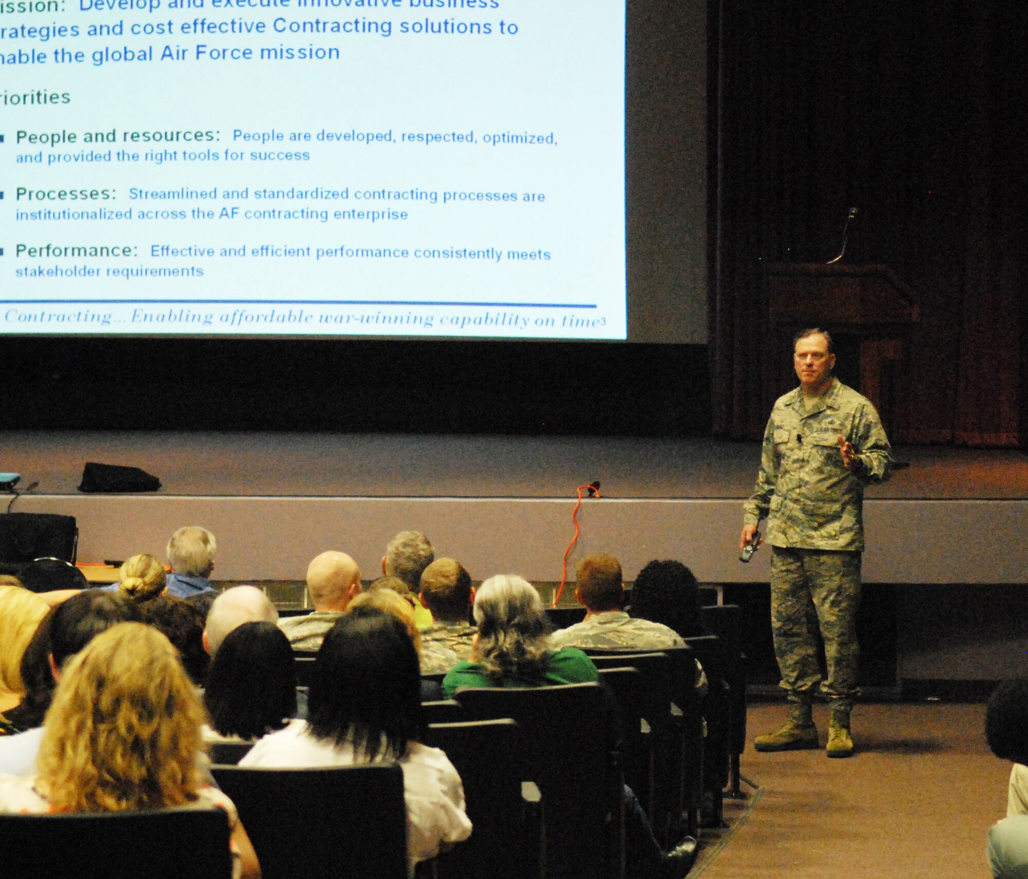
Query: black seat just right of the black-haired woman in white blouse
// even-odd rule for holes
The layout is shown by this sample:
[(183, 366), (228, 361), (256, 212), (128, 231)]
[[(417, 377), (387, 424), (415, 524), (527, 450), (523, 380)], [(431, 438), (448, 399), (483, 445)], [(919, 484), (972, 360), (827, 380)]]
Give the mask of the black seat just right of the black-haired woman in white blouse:
[(446, 751), (464, 781), (474, 832), (435, 858), (439, 879), (544, 879), (539, 788), (521, 781), (517, 724), (510, 718), (431, 724), (425, 743)]

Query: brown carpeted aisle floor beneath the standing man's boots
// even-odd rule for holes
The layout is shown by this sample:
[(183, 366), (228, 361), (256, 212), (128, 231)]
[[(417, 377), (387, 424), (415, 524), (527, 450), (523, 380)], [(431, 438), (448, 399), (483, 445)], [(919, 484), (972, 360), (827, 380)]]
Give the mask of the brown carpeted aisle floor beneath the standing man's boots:
[[(755, 805), (726, 802), (732, 825), (705, 837), (703, 879), (987, 879), (985, 832), (1006, 811), (1009, 764), (982, 732), (982, 705), (858, 705), (858, 753), (757, 753), (784, 704), (749, 709), (742, 775)], [(828, 711), (815, 708), (827, 736)], [(744, 792), (752, 789), (743, 784)], [(723, 843), (723, 846), (722, 846)]]

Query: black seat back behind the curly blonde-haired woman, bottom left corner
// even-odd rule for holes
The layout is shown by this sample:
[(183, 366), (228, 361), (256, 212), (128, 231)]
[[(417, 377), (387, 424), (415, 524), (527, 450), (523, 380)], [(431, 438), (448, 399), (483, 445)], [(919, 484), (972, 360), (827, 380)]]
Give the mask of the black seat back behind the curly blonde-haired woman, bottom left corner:
[(231, 879), (221, 809), (0, 814), (4, 879)]

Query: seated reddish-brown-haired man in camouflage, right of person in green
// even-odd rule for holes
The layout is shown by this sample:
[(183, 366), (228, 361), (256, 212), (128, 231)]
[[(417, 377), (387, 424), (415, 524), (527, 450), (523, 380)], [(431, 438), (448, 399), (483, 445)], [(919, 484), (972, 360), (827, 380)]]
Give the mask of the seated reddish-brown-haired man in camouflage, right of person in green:
[(660, 623), (632, 619), (621, 609), (624, 599), (621, 563), (605, 553), (579, 562), (575, 597), (586, 608), (585, 620), (550, 635), (554, 647), (659, 651), (685, 646), (678, 634)]

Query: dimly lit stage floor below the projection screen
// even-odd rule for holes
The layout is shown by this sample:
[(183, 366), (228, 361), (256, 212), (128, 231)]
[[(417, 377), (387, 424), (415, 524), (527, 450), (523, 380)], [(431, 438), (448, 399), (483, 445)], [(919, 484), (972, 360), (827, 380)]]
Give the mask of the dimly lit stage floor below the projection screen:
[[(874, 499), (1021, 499), (1028, 456), (1012, 450), (906, 447)], [(743, 498), (756, 443), (591, 436), (0, 431), (0, 469), (20, 489), (77, 494), (86, 461), (159, 477), (186, 497), (567, 497), (593, 480), (612, 498)]]

